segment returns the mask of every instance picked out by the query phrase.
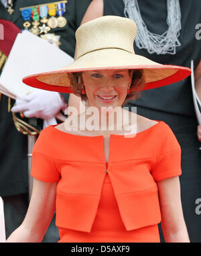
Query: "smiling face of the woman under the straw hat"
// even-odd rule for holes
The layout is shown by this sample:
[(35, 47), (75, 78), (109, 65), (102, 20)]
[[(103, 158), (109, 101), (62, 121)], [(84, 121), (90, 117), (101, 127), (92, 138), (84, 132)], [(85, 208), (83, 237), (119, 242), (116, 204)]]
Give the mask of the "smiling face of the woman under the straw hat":
[(120, 107), (127, 96), (132, 75), (133, 71), (129, 73), (128, 69), (84, 71), (82, 79), (88, 97), (88, 106)]

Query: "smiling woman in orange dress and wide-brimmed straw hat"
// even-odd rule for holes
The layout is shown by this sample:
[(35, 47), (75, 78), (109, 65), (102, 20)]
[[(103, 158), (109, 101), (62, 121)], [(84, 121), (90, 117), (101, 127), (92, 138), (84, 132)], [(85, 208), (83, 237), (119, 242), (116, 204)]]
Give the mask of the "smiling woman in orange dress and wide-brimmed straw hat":
[(25, 77), (79, 95), (86, 110), (42, 130), (33, 150), (34, 187), (25, 220), (7, 242), (40, 242), (56, 210), (59, 242), (190, 242), (180, 200), (181, 149), (165, 122), (123, 104), (142, 89), (174, 83), (190, 69), (136, 55), (137, 26), (104, 16), (76, 31), (77, 59)]

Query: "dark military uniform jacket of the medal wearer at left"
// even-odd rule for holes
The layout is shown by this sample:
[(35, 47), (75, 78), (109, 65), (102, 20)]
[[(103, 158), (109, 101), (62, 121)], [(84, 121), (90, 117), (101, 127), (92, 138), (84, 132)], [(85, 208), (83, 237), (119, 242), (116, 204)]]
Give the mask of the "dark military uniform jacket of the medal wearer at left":
[[(19, 8), (43, 3), (54, 3), (54, 1), (15, 0), (13, 1), (15, 11), (12, 15), (9, 15), (0, 1), (0, 17), (13, 22), (19, 29), (23, 29), (24, 20)], [(74, 32), (80, 25), (89, 3), (90, 0), (68, 0), (64, 13), (64, 17), (67, 19), (66, 26), (50, 30), (50, 33), (61, 36), (60, 42), (62, 44), (60, 48), (72, 57), (74, 57), (76, 44)], [(66, 101), (68, 101), (68, 97), (66, 94)], [(11, 100), (11, 107), (14, 103), (15, 101)], [(0, 145), (0, 196), (27, 193), (27, 136), (21, 134), (15, 128), (12, 113), (8, 112), (8, 98), (4, 95), (1, 95), (0, 101)]]

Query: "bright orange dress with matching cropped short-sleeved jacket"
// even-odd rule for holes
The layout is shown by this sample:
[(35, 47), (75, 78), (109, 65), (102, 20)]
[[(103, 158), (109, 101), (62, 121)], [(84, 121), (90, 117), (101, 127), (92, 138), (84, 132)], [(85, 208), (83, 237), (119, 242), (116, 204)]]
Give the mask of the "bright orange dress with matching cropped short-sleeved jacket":
[[(31, 175), (58, 182), (56, 225), (66, 243), (159, 242), (157, 181), (181, 175), (181, 149), (167, 124), (125, 138), (45, 128), (33, 149)], [(105, 171), (107, 170), (107, 172)]]

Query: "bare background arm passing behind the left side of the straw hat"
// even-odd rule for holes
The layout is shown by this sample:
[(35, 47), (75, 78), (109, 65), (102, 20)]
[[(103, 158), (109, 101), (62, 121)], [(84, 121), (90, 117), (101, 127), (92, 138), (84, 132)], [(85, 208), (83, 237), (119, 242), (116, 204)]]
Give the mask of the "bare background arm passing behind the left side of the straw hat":
[[(89, 22), (92, 19), (95, 19), (96, 17), (103, 16), (103, 0), (93, 0), (90, 5), (88, 5), (88, 9), (86, 10), (86, 13), (84, 14), (84, 17), (82, 19), (82, 22), (80, 25)], [(75, 49), (74, 59), (76, 60), (76, 54), (77, 54), (77, 47)], [(80, 97), (77, 97), (74, 94), (70, 94), (69, 100), (68, 100), (68, 106), (76, 108), (78, 114), (84, 112), (84, 104), (82, 103)]]

